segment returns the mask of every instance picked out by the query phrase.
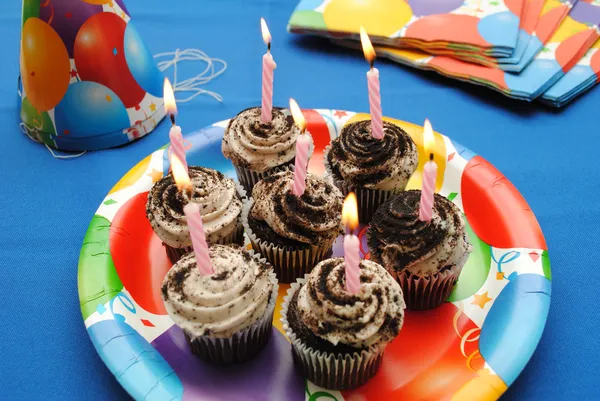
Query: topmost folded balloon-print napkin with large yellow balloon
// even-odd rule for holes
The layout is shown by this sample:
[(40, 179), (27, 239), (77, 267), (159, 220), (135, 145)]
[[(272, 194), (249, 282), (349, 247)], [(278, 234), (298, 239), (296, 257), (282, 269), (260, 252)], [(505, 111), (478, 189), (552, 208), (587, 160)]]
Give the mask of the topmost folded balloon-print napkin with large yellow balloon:
[(517, 47), (525, 1), (302, 0), (288, 29), (358, 39), (363, 25), (380, 45), (510, 57)]

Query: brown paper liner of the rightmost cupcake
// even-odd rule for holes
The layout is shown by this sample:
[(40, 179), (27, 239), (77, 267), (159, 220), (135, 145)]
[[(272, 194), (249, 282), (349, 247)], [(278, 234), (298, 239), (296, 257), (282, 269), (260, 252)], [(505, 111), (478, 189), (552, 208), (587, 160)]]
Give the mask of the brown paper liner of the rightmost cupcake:
[(433, 309), (443, 304), (460, 276), (462, 266), (452, 266), (431, 277), (401, 272), (396, 280), (404, 292), (406, 307), (412, 310)]

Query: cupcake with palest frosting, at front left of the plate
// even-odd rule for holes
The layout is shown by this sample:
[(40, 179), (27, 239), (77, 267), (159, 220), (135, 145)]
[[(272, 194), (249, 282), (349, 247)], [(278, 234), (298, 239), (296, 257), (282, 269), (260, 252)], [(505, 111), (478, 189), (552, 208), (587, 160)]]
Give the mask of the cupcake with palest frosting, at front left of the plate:
[(165, 276), (162, 299), (192, 353), (216, 365), (243, 363), (268, 343), (277, 300), (271, 266), (238, 245), (212, 245), (214, 273), (191, 252)]

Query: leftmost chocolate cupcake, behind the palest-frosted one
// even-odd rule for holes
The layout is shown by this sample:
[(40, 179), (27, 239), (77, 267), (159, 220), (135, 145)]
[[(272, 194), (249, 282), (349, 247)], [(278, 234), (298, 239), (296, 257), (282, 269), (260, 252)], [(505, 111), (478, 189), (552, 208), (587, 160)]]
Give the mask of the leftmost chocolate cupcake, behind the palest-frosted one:
[(191, 193), (179, 191), (173, 174), (169, 173), (152, 186), (146, 203), (146, 216), (163, 241), (172, 263), (192, 250), (183, 213), (183, 207), (189, 202), (200, 207), (208, 243), (244, 243), (244, 227), (240, 219), (244, 189), (213, 169), (190, 166), (188, 174), (193, 186)]

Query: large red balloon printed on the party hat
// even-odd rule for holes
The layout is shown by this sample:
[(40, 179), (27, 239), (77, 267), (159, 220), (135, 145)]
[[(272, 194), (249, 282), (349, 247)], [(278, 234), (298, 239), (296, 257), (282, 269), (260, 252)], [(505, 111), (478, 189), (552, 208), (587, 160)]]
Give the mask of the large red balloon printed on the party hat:
[(75, 65), (84, 81), (113, 90), (125, 107), (135, 107), (146, 95), (129, 71), (124, 37), (127, 23), (113, 13), (99, 13), (82, 25), (75, 39)]

